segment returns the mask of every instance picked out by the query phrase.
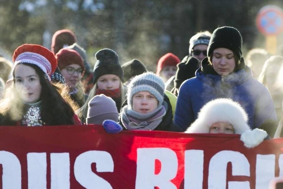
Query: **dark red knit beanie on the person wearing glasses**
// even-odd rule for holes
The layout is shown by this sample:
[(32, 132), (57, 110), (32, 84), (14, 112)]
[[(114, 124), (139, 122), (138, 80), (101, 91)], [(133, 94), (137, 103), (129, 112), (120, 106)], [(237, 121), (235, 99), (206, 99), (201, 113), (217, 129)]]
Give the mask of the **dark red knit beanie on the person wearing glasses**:
[(57, 59), (59, 69), (63, 69), (71, 64), (78, 64), (82, 69), (85, 69), (83, 59), (75, 50), (62, 48), (55, 55), (55, 58)]

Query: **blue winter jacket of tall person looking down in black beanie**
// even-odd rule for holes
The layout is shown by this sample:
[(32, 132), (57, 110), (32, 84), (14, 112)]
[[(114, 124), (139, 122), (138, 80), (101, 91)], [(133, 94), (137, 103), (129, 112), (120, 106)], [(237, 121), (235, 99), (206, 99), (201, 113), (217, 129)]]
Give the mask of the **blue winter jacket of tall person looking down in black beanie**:
[[(177, 99), (174, 123), (184, 131), (197, 119), (200, 109), (210, 100), (231, 98), (240, 103), (249, 116), (249, 126), (254, 129), (266, 120), (277, 121), (268, 89), (255, 80), (251, 69), (242, 58), (240, 69), (227, 76), (218, 75), (208, 58), (203, 59), (196, 77), (182, 83)], [(207, 71), (209, 70), (209, 71)]]

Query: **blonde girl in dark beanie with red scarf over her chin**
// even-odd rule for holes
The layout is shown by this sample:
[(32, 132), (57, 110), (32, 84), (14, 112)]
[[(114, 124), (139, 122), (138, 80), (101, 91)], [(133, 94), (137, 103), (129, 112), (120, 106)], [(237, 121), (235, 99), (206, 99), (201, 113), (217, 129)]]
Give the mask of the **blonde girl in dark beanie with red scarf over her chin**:
[(85, 118), (87, 117), (88, 102), (95, 95), (104, 94), (111, 97), (116, 102), (118, 111), (125, 100), (124, 73), (117, 53), (111, 49), (104, 48), (99, 50), (95, 57), (97, 61), (93, 68), (94, 86), (85, 104), (78, 110), (83, 123), (85, 123)]

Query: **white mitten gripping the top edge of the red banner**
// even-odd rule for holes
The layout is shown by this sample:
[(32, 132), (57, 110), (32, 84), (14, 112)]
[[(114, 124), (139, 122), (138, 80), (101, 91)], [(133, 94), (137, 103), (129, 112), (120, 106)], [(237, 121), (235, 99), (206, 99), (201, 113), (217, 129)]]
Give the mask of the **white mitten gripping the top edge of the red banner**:
[(241, 134), (241, 141), (247, 148), (254, 148), (259, 145), (267, 137), (266, 131), (262, 129), (254, 129), (252, 131), (245, 131)]

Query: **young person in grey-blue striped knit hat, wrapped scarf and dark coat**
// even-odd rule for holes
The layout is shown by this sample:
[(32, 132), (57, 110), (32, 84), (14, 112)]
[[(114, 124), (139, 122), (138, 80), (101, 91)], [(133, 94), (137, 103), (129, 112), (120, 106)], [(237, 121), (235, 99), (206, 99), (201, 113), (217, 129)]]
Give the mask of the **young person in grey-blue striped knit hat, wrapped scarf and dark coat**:
[(119, 122), (128, 130), (179, 131), (172, 123), (172, 106), (161, 77), (146, 72), (131, 80)]

